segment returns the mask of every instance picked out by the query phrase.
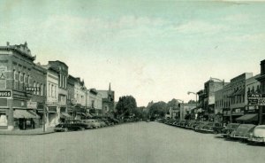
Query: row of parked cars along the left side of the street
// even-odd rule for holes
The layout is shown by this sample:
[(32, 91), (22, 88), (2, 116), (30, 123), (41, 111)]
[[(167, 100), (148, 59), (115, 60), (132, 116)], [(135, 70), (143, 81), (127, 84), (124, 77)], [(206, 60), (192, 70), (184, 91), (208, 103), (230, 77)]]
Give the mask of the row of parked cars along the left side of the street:
[(118, 124), (117, 119), (89, 119), (89, 120), (65, 120), (57, 124), (54, 128), (55, 131), (76, 131), (92, 128), (103, 128)]

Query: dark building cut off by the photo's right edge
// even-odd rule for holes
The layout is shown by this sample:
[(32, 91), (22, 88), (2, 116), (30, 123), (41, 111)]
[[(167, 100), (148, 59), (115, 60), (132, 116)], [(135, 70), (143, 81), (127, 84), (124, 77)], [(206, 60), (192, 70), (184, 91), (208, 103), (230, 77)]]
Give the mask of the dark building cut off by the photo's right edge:
[(261, 61), (261, 75), (256, 80), (261, 83), (261, 96), (263, 97), (263, 102), (259, 104), (259, 124), (265, 124), (265, 59)]

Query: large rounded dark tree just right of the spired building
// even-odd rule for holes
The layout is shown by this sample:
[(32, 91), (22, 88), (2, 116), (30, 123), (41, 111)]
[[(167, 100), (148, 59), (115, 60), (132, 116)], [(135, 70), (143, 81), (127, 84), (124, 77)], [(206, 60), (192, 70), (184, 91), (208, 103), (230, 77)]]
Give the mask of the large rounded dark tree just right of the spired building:
[(137, 104), (133, 96), (119, 97), (117, 105), (116, 105), (117, 116), (128, 117), (132, 113), (136, 113), (135, 111), (136, 108), (137, 108)]

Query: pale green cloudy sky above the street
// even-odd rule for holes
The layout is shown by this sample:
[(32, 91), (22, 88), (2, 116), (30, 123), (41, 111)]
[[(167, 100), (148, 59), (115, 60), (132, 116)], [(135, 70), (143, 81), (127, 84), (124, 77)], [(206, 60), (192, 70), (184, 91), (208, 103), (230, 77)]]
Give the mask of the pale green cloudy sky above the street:
[(27, 41), (35, 62), (61, 60), (87, 88), (137, 105), (195, 99), (210, 77), (260, 73), (265, 2), (0, 1), (0, 45)]

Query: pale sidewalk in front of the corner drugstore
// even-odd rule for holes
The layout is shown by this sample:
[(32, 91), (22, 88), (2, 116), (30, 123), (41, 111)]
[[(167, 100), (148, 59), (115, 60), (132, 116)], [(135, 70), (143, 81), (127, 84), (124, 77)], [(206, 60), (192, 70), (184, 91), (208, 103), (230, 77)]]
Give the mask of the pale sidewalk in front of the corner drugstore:
[(27, 129), (27, 130), (0, 130), (0, 135), (14, 135), (14, 136), (34, 136), (34, 135), (44, 135), (54, 133), (54, 128), (47, 128), (45, 132), (43, 132), (43, 128), (35, 128), (35, 129)]

